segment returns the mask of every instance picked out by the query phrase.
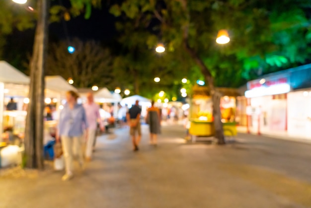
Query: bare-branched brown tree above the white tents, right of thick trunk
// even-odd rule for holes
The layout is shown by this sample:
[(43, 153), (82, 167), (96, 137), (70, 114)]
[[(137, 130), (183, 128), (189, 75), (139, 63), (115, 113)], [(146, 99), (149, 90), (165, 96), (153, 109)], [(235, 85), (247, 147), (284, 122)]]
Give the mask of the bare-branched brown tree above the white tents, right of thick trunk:
[(47, 57), (47, 75), (73, 78), (74, 86), (78, 88), (113, 84), (112, 57), (108, 49), (93, 40), (82, 42), (76, 38), (71, 43), (76, 49), (72, 54), (67, 50), (66, 41), (51, 45)]

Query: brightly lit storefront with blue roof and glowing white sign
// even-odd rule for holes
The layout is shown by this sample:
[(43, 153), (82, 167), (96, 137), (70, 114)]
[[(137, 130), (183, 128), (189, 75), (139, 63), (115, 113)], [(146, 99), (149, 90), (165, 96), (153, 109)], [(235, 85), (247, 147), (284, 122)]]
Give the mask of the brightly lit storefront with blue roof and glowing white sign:
[(247, 132), (311, 139), (311, 65), (249, 81), (237, 99)]

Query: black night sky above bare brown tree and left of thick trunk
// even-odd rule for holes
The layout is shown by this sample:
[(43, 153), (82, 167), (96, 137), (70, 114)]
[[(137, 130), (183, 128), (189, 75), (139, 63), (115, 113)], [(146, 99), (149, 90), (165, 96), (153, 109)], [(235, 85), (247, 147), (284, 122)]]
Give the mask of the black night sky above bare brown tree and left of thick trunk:
[[(53, 22), (49, 25), (49, 42), (60, 40), (69, 41), (79, 38), (82, 41), (96, 40), (104, 44), (109, 44), (116, 37), (117, 32), (114, 27), (116, 17), (109, 13), (108, 6), (101, 9), (92, 9), (89, 19), (85, 19), (83, 14), (72, 17), (69, 21)], [(34, 41), (33, 29), (18, 31), (14, 29), (8, 35), (4, 46), (3, 58), (11, 65), (28, 74), (29, 57), (32, 54)]]

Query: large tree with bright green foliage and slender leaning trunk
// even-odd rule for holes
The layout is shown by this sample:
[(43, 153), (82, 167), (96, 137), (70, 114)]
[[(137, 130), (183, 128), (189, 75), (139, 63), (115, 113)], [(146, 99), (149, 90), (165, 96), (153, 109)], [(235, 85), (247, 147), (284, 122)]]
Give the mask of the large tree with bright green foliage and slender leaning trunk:
[[(294, 43), (291, 40), (295, 34), (302, 37), (309, 28), (309, 20), (302, 11), (302, 3), (305, 2), (286, 0), (285, 6), (280, 9), (278, 2), (271, 3), (268, 0), (125, 0), (113, 6), (111, 12), (117, 16), (126, 15), (129, 19), (149, 16), (153, 19), (150, 21), (153, 28), (156, 28), (153, 32), (172, 51), (183, 46), (208, 83), (214, 106), (215, 136), (220, 144), (224, 144), (221, 94), (215, 84), (228, 86), (224, 80), (235, 79), (228, 75), (237, 74), (248, 78), (248, 72), (265, 67), (261, 63), (271, 65), (273, 62), (269, 61), (269, 57), (277, 58), (277, 61), (272, 59), (275, 63), (282, 63), (282, 51), (293, 54), (292, 50), (286, 50), (286, 46)], [(306, 5), (310, 6), (310, 2)], [(288, 12), (289, 9), (294, 10), (295, 15)], [(283, 18), (278, 18), (280, 16)], [(293, 21), (284, 18), (286, 16), (298, 18)], [(215, 38), (217, 31), (224, 28), (233, 34), (233, 40), (228, 45), (220, 46), (215, 43)], [(282, 34), (284, 28), (291, 38), (283, 42), (282, 46), (278, 43), (278, 34)], [(289, 28), (295, 28), (296, 33), (288, 31)], [(308, 44), (306, 38), (302, 40), (305, 45)], [(298, 43), (294, 45), (302, 48)]]

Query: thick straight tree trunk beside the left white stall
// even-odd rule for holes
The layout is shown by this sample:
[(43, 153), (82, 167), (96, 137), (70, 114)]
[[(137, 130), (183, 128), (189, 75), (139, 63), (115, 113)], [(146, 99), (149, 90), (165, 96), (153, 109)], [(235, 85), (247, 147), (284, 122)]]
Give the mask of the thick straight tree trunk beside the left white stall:
[(43, 157), (43, 110), (44, 110), (44, 69), (48, 37), (48, 2), (38, 0), (38, 22), (35, 33), (33, 54), (30, 61), (29, 104), (25, 128), (25, 159), (27, 168), (44, 168)]

